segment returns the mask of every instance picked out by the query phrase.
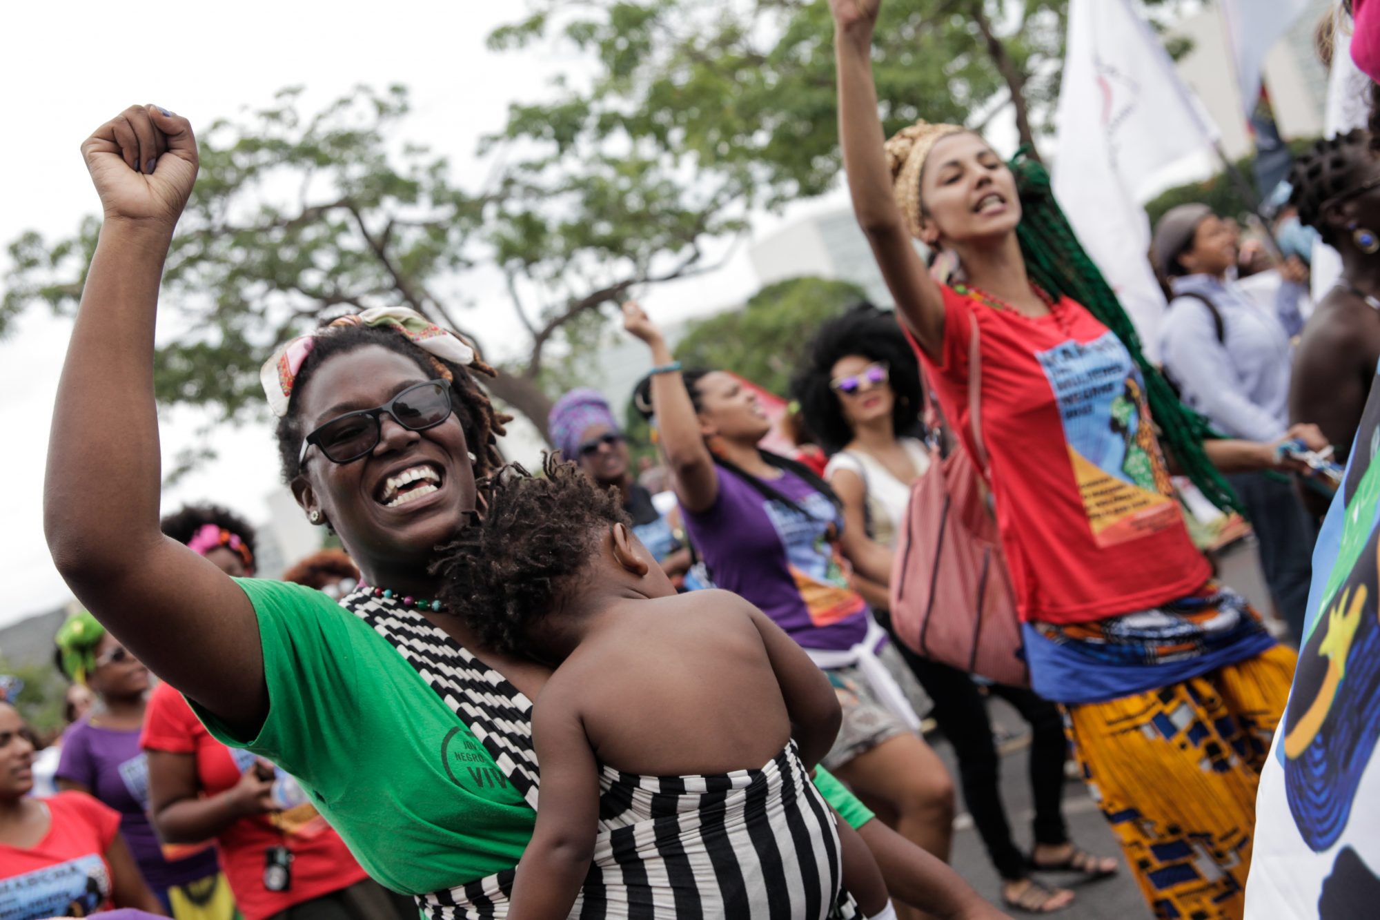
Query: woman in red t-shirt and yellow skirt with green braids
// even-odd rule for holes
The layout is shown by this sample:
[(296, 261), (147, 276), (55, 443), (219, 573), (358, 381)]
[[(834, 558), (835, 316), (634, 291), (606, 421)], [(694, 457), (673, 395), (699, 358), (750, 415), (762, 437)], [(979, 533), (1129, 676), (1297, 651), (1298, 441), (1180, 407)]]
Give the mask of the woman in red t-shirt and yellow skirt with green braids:
[[(985, 457), (1035, 689), (1064, 705), (1089, 785), (1155, 912), (1238, 917), (1259, 771), (1296, 659), (1210, 580), (1159, 431), (1205, 492), (1224, 504), (1231, 492), (1194, 419), (1137, 354), (1047, 184), (1032, 181), (1018, 238), (1027, 204), (980, 137), (920, 123), (883, 146), (871, 75), (879, 0), (831, 7), (854, 211), (945, 416)], [(963, 280), (936, 283), (912, 238), (954, 253)], [(1025, 250), (1041, 256), (1031, 265), (1046, 286), (1083, 291), (1101, 320), (1038, 287)], [(1292, 434), (1321, 441), (1311, 427)], [(1272, 467), (1274, 448), (1217, 442), (1208, 459)]]

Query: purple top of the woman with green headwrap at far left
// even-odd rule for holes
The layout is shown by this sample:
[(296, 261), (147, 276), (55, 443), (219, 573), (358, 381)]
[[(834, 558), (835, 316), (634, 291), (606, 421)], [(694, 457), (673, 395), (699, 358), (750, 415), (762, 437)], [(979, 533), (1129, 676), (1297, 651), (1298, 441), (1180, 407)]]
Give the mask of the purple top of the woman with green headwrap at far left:
[(163, 845), (148, 814), (149, 764), (139, 747), (139, 729), (97, 728), (88, 718), (73, 722), (63, 735), (58, 779), (81, 783), (120, 812), (120, 833), (130, 844), (144, 880), (155, 891), (219, 872), (214, 848), (175, 862), (163, 858)]

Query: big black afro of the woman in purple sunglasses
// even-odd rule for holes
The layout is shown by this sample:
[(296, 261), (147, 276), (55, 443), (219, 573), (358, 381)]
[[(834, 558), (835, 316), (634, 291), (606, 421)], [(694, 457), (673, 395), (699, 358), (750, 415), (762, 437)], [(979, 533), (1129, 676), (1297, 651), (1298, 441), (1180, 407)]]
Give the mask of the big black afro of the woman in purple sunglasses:
[(896, 437), (920, 435), (925, 406), (920, 363), (890, 312), (868, 303), (854, 305), (820, 326), (807, 355), (805, 366), (791, 381), (791, 396), (800, 403), (805, 424), (820, 439), (825, 453), (838, 453), (853, 441), (853, 427), (832, 387), (834, 365), (849, 355), (886, 363), (887, 380), (896, 395), (891, 406)]

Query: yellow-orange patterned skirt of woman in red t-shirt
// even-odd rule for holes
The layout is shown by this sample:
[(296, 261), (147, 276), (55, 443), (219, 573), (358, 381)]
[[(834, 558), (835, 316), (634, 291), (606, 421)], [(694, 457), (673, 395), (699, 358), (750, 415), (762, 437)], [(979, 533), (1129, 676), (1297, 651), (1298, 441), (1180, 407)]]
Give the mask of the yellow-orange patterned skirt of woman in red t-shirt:
[(1243, 916), (1256, 785), (1296, 663), (1278, 645), (1181, 684), (1064, 707), (1087, 787), (1156, 917)]

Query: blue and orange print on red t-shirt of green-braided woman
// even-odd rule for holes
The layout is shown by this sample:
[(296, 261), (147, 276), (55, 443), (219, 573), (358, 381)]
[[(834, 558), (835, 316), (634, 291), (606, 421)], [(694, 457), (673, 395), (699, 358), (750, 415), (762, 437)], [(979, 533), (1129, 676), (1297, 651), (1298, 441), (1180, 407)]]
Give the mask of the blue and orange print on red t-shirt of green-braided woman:
[(1111, 332), (1036, 352), (1064, 421), (1068, 457), (1100, 547), (1179, 526), (1180, 511), (1155, 439), (1145, 384)]

